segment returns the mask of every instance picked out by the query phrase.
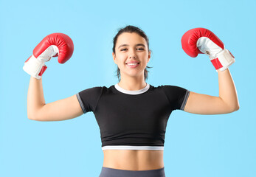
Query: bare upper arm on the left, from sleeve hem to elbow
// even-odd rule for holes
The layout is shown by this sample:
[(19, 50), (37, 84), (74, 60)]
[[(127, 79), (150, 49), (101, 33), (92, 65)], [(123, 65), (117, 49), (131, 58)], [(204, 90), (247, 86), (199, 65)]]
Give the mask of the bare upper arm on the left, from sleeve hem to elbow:
[(38, 121), (58, 121), (79, 117), (82, 114), (83, 110), (80, 107), (77, 96), (73, 95), (63, 100), (47, 103), (38, 110), (32, 119)]

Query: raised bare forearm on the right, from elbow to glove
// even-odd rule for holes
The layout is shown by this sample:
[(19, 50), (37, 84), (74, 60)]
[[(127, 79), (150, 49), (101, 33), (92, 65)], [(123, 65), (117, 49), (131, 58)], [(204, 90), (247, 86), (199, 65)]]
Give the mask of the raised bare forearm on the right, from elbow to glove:
[(232, 110), (238, 110), (238, 94), (229, 69), (226, 69), (223, 72), (218, 70), (218, 86), (219, 97), (221, 100), (223, 100)]

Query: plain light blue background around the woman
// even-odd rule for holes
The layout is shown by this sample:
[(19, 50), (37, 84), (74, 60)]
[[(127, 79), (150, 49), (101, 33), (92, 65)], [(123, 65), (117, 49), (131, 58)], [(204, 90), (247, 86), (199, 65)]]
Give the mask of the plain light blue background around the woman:
[(165, 137), (165, 173), (173, 177), (256, 176), (256, 1), (0, 1), (0, 176), (99, 176), (100, 129), (92, 112), (60, 122), (27, 118), (32, 49), (53, 32), (72, 38), (61, 65), (46, 63), (44, 97), (51, 103), (94, 86), (112, 86), (112, 39), (120, 27), (142, 28), (153, 51), (147, 83), (218, 96), (218, 73), (206, 55), (181, 49), (187, 30), (204, 27), (235, 56), (230, 66), (240, 109), (232, 114), (173, 111)]

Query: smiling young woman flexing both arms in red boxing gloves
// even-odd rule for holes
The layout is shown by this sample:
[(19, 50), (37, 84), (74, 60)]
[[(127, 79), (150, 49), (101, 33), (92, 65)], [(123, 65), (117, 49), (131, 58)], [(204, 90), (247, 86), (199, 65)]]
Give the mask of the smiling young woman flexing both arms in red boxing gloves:
[[(187, 35), (191, 37), (194, 34)], [(216, 42), (217, 37), (205, 36), (204, 41), (201, 41), (202, 36), (196, 36), (196, 45), (200, 44), (196, 47), (200, 50), (190, 50), (190, 46), (195, 44), (185, 44), (186, 36), (182, 45), (190, 56), (191, 51), (210, 56), (218, 71), (219, 97), (198, 94), (179, 86), (154, 87), (146, 83), (146, 68), (151, 59), (148, 37), (138, 27), (127, 26), (114, 37), (112, 55), (117, 64), (119, 83), (109, 88), (103, 86), (85, 89), (72, 97), (46, 104), (41, 80), (41, 74), (45, 71), (42, 67), (46, 67), (44, 62), (58, 55), (59, 62), (64, 63), (72, 55), (71, 39), (63, 37), (63, 34), (54, 35), (54, 38), (61, 38), (65, 46), (69, 47), (63, 49), (63, 46), (55, 42), (47, 44), (44, 49), (37, 46), (30, 60), (41, 60), (40, 66), (28, 60), (24, 66), (24, 70), (32, 75), (27, 97), (28, 117), (38, 121), (58, 121), (93, 111), (100, 127), (104, 153), (100, 177), (165, 176), (165, 128), (173, 110), (193, 114), (227, 114), (239, 108), (235, 85), (228, 69), (235, 60), (226, 53), (224, 57), (218, 55), (224, 51), (224, 46), (216, 53), (218, 58), (212, 58), (218, 48), (212, 41), (219, 46), (221, 44)], [(227, 60), (225, 58), (231, 63), (224, 65), (223, 60)], [(222, 65), (217, 62), (216, 66), (215, 60), (218, 59), (222, 60)], [(32, 67), (37, 69), (31, 69)], [(37, 72), (31, 72), (35, 70)]]

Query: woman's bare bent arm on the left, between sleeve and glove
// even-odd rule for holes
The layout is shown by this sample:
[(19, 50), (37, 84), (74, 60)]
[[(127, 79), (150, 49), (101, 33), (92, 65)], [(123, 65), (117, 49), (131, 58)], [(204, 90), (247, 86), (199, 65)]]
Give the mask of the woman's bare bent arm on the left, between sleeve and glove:
[(83, 114), (77, 96), (73, 95), (63, 100), (45, 103), (42, 79), (30, 77), (27, 94), (27, 116), (38, 121), (58, 121), (72, 119)]

